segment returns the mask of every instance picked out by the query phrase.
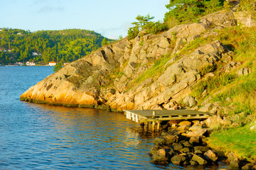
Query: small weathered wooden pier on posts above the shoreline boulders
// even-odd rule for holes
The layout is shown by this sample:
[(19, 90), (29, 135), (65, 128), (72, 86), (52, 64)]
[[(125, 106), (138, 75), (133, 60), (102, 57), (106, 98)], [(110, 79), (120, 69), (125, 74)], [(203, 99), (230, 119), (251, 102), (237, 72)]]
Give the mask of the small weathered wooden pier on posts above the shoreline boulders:
[(207, 119), (212, 115), (191, 110), (124, 110), (124, 114), (129, 120), (146, 124), (146, 129), (149, 129), (149, 123), (151, 123), (152, 130), (159, 130), (160, 123), (164, 120)]

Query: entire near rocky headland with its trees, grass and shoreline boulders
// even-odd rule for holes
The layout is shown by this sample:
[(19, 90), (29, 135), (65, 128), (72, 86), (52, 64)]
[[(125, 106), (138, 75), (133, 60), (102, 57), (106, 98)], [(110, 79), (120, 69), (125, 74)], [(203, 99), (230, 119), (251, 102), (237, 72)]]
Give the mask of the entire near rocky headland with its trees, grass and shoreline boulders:
[[(175, 156), (177, 164), (203, 165), (224, 157), (230, 169), (256, 169), (255, 3), (170, 1), (164, 23), (137, 16), (127, 38), (63, 67), (20, 99), (107, 111), (214, 113), (190, 125), (169, 123), (150, 152), (165, 161), (154, 163), (168, 164)], [(186, 135), (198, 130), (196, 145), (212, 149), (192, 146)], [(210, 155), (218, 158), (204, 159)]]

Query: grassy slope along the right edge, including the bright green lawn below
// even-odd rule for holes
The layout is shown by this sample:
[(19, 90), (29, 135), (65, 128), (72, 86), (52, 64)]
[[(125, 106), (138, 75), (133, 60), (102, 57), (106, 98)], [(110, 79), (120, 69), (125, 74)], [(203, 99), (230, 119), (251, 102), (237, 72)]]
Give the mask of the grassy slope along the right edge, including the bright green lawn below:
[[(202, 91), (200, 85), (207, 84), (206, 89), (212, 90), (209, 95), (213, 95), (213, 102), (221, 101), (223, 106), (230, 106), (233, 103), (235, 109), (230, 111), (228, 115), (230, 115), (233, 123), (238, 123), (240, 126), (213, 132), (208, 139), (208, 143), (210, 147), (217, 150), (235, 152), (238, 157), (249, 160), (256, 159), (256, 130), (250, 130), (250, 127), (256, 123), (255, 35), (256, 28), (235, 26), (220, 30), (218, 39), (235, 52), (233, 60), (242, 63), (238, 69), (248, 67), (252, 69), (252, 73), (247, 76), (234, 76), (232, 79), (227, 79), (227, 77), (235, 75), (238, 69), (233, 70), (230, 74), (221, 74), (216, 71), (220, 74), (219, 77), (201, 82), (193, 90), (193, 94), (198, 94), (200, 89)], [(222, 77), (226, 78), (223, 79)], [(217, 91), (220, 91), (220, 93), (214, 95)], [(232, 99), (231, 102), (226, 101), (228, 97)], [(201, 100), (203, 101), (203, 98)]]

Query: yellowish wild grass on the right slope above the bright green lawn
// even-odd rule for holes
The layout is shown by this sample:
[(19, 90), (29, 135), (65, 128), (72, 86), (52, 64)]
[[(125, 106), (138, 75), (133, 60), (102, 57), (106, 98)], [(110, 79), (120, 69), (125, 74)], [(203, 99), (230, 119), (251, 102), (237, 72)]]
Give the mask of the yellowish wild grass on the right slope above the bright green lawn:
[[(235, 111), (230, 114), (241, 113), (242, 111), (249, 114), (255, 114), (256, 111), (256, 28), (242, 28), (235, 26), (219, 30), (217, 37), (220, 42), (235, 52), (234, 62), (241, 62), (241, 65), (233, 69), (230, 73), (223, 72), (223, 65), (215, 66), (216, 77), (210, 77), (199, 82), (193, 88), (193, 96), (196, 96), (201, 103), (208, 96), (213, 96), (212, 101), (221, 101), (223, 106), (229, 106), (230, 102), (226, 98), (232, 98), (235, 105)], [(238, 77), (238, 69), (247, 67), (252, 69), (252, 73), (247, 76)], [(211, 72), (212, 68), (203, 70), (205, 74)], [(202, 98), (204, 90), (210, 91), (208, 96)], [(216, 94), (216, 92), (220, 92)], [(214, 95), (216, 94), (216, 95)]]

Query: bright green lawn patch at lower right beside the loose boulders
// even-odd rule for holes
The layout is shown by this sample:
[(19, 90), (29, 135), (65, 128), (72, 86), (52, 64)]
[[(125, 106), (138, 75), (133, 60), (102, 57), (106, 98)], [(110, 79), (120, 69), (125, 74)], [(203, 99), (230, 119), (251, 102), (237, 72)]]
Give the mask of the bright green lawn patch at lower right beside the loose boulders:
[(215, 131), (208, 138), (209, 147), (223, 152), (234, 152), (242, 159), (256, 159), (256, 130), (250, 130), (255, 124)]

